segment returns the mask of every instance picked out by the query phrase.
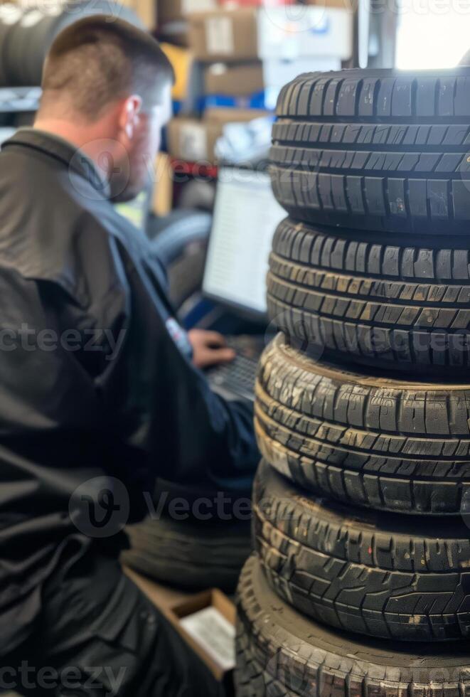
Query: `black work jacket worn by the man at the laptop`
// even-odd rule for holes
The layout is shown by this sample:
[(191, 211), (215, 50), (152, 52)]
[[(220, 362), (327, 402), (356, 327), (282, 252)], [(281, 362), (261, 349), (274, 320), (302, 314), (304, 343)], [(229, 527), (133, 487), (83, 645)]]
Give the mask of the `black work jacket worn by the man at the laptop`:
[(1, 654), (61, 555), (119, 552), (156, 476), (238, 488), (258, 454), (250, 410), (191, 364), (144, 235), (33, 129), (0, 153), (0, 299)]

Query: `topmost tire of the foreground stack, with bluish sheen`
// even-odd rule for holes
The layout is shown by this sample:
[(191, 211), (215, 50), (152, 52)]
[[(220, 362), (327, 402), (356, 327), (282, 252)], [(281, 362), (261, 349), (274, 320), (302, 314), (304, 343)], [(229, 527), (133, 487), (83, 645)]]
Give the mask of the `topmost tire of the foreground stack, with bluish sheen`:
[(272, 183), (294, 218), (468, 235), (470, 68), (306, 73), (277, 116)]

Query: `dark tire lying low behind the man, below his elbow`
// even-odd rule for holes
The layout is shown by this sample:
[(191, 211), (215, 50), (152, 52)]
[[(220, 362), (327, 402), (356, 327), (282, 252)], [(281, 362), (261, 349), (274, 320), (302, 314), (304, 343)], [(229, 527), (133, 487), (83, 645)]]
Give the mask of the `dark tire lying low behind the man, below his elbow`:
[(161, 517), (127, 529), (131, 549), (122, 563), (183, 590), (220, 588), (232, 594), (252, 550), (250, 523), (207, 526)]

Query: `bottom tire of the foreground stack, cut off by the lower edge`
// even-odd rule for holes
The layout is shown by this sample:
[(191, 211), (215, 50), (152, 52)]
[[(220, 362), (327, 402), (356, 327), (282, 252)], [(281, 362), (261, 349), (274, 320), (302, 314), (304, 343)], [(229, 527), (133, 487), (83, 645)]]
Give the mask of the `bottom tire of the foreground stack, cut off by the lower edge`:
[[(302, 617), (269, 588), (256, 556), (238, 587), (237, 685), (250, 697), (459, 697), (470, 688), (468, 644), (415, 644), (334, 632)], [(248, 665), (246, 665), (248, 664)], [(267, 691), (259, 671), (284, 687)], [(258, 680), (255, 683), (254, 680)]]

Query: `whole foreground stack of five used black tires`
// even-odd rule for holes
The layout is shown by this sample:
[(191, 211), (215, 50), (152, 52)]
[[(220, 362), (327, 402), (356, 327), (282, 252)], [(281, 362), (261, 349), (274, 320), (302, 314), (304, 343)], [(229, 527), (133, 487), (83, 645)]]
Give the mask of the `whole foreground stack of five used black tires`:
[(279, 97), (237, 695), (470, 693), (470, 69)]

